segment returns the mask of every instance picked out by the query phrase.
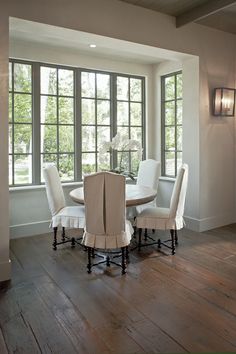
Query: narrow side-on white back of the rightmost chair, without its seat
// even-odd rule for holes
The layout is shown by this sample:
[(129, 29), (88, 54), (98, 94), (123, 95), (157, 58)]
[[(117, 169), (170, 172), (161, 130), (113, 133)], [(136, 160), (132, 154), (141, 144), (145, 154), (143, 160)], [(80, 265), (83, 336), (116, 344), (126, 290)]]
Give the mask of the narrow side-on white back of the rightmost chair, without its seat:
[(183, 216), (188, 184), (188, 165), (183, 164), (177, 174), (171, 201), (170, 217)]

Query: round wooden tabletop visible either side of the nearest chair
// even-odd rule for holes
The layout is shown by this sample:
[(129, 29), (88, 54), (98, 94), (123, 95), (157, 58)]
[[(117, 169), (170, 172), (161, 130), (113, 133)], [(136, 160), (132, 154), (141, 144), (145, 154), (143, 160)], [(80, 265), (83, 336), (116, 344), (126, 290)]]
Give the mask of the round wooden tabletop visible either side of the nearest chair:
[[(126, 206), (136, 206), (146, 204), (155, 199), (157, 191), (152, 188), (139, 186), (137, 184), (126, 185)], [(79, 204), (84, 204), (83, 187), (73, 189), (70, 192), (71, 199)]]

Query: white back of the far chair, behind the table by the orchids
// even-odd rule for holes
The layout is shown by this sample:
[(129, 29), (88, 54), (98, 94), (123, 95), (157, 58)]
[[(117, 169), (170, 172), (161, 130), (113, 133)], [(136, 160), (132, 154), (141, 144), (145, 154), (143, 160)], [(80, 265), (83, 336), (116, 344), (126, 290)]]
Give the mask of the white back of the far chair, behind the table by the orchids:
[(159, 161), (148, 159), (141, 161), (138, 169), (137, 184), (157, 190), (161, 164)]

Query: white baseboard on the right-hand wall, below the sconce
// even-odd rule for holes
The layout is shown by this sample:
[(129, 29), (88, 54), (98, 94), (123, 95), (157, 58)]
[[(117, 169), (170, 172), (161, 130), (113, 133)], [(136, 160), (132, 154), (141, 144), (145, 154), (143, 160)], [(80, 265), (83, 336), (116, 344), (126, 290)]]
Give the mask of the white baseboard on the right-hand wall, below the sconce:
[(216, 229), (217, 227), (235, 223), (235, 216), (233, 213), (212, 216), (203, 219), (195, 219), (189, 216), (184, 216), (184, 220), (187, 229), (196, 232), (204, 232), (207, 230)]

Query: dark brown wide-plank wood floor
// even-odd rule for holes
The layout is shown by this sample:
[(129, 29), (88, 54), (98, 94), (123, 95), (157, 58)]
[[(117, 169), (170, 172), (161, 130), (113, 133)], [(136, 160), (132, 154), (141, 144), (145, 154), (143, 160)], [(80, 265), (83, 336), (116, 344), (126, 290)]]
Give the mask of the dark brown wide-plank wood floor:
[(11, 241), (1, 354), (236, 353), (236, 225), (180, 232), (175, 256), (134, 251), (125, 276), (51, 241)]

